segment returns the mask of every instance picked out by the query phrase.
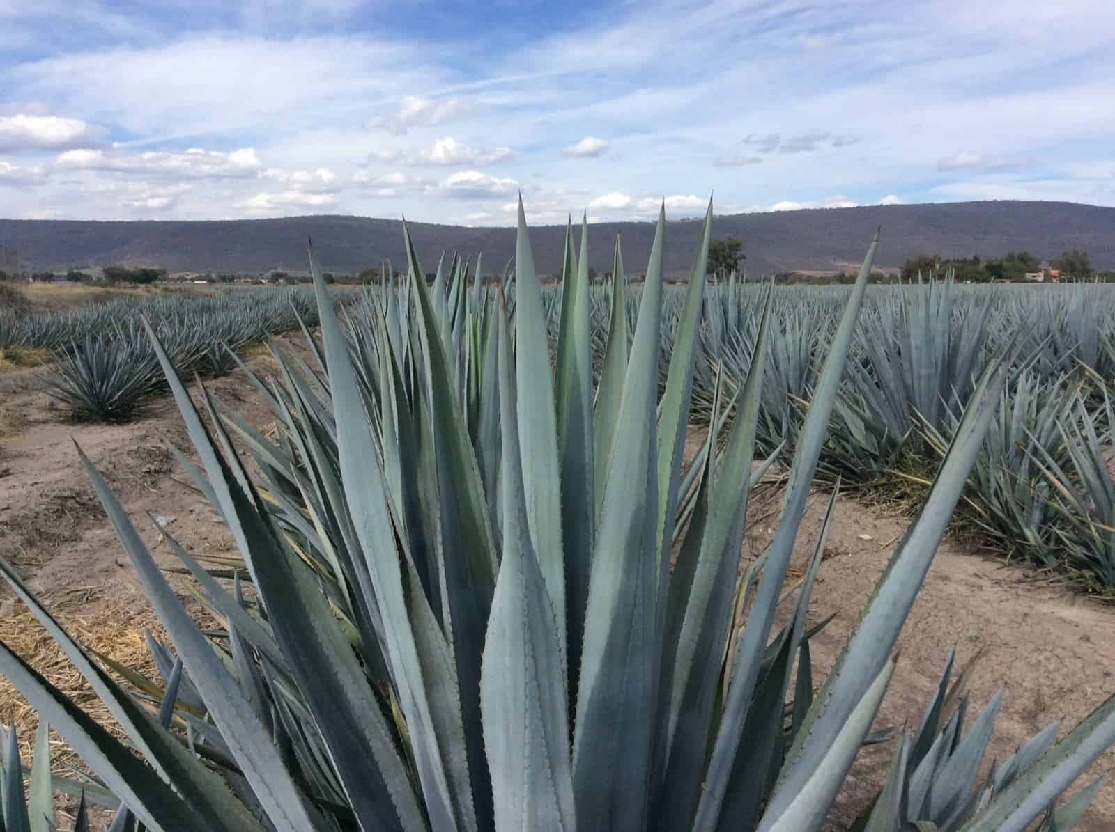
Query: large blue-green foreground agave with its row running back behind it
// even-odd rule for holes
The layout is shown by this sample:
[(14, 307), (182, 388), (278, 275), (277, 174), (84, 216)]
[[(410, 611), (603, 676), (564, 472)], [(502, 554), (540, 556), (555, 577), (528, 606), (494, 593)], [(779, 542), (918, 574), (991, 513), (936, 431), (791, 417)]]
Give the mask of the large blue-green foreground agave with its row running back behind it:
[[(118, 806), (115, 830), (822, 828), (879, 738), (896, 638), (1018, 345), (976, 380), (921, 511), (815, 689), (809, 643), (825, 623), (808, 611), (838, 489), (796, 588), (787, 571), (878, 237), (824, 345), (777, 530), (740, 576), (774, 294), (755, 298), (741, 385), (716, 373), (709, 419), (724, 441), (683, 469), (711, 205), (661, 368), (663, 227), (660, 213), (630, 337), (622, 283), (612, 296), (599, 372), (586, 228), (579, 252), (568, 236), (553, 360), (522, 207), (513, 303), (454, 268), (433, 288), (376, 293), (342, 323), (311, 252), (322, 343), (309, 362), (277, 348), (280, 378), (250, 375), (274, 439), (204, 389), (203, 419), (151, 330), (201, 464), (174, 451), (239, 558), (167, 540), (223, 626), (198, 628), (84, 456), (174, 644), (176, 657), (152, 643), (162, 678), (130, 673), (139, 693), (125, 692), (0, 560), (130, 740), (0, 645), (0, 673), (96, 773), (87, 795)], [(424, 274), (406, 244), (409, 273)], [(216, 577), (229, 567), (231, 586)], [(1058, 797), (1115, 742), (1115, 697), (983, 773), (998, 698), (969, 722), (964, 674), (951, 674), (950, 656), (857, 828), (1070, 829), (1098, 783)], [(50, 829), (41, 784), (29, 812), (7, 760), (6, 823)]]

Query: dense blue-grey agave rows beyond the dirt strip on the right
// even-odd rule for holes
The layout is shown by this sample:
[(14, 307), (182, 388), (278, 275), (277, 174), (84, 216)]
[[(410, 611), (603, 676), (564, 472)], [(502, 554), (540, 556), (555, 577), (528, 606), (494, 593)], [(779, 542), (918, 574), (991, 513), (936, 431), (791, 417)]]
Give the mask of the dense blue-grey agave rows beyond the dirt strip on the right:
[[(734, 277), (707, 290), (694, 380), (697, 420), (709, 420), (718, 362), (728, 389), (741, 386), (764, 291)], [(561, 293), (551, 292), (556, 309)], [(626, 290), (630, 321), (638, 292)], [(595, 288), (598, 331), (608, 331), (611, 294), (611, 286)], [(775, 291), (757, 428), (764, 456), (788, 461), (847, 295), (846, 287)], [(667, 359), (681, 290), (671, 297), (662, 326)], [(1115, 490), (1105, 473), (1115, 428), (1107, 402), (1115, 382), (1115, 288), (971, 287), (946, 278), (869, 286), (863, 306), (818, 474), (860, 489), (892, 489), (900, 478), (919, 490), (959, 425), (978, 369), (1016, 334), (1016, 358), (960, 519), (1008, 557), (1067, 570), (1089, 589), (1115, 590)], [(556, 314), (550, 327), (556, 332)], [(601, 343), (594, 340), (598, 369)]]

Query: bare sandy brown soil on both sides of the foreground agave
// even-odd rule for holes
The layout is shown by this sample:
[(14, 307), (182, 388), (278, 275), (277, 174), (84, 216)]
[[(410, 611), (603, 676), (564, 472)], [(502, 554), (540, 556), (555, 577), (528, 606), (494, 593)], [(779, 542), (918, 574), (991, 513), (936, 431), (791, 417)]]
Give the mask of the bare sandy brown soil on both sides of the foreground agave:
[[(250, 363), (265, 373), (270, 359), (258, 355)], [(249, 420), (270, 421), (239, 372), (211, 386)], [(146, 512), (173, 515), (173, 534), (193, 551), (225, 552), (233, 545), (203, 500), (177, 481), (162, 446), (163, 437), (180, 447), (188, 444), (172, 402), (157, 402), (146, 418), (129, 425), (72, 424), (59, 418), (40, 390), (35, 371), (0, 374), (0, 555), (17, 564), (50, 606), (69, 605), (87, 616), (132, 610), (132, 620), (125, 615), (117, 626), (122, 639), (134, 637), (149, 621), (149, 609), (79, 471), (70, 439), (106, 473), (156, 557), (166, 558), (167, 552), (145, 521)], [(821, 493), (813, 498), (798, 540), (802, 558), (820, 532), (825, 500)], [(777, 507), (772, 501), (756, 503), (745, 560), (762, 550), (774, 523), (774, 517), (763, 515)], [(814, 642), (818, 677), (852, 630), (906, 522), (851, 499), (838, 507), (811, 610), (814, 619), (837, 613)], [(1002, 760), (1049, 722), (1070, 728), (1115, 691), (1115, 608), (969, 549), (953, 540), (941, 547), (900, 640), (899, 669), (879, 724), (902, 725), (920, 717), (951, 646), (957, 646), (959, 664), (980, 652), (972, 704), (981, 706), (1005, 688), (992, 747), (993, 756)], [(0, 629), (23, 617), (11, 594), (0, 589)], [(890, 754), (889, 745), (861, 754), (831, 819), (832, 830), (844, 829), (875, 794)], [(1113, 770), (1115, 754), (1108, 753), (1093, 774)], [(1080, 829), (1112, 828), (1115, 786), (1107, 785)]]

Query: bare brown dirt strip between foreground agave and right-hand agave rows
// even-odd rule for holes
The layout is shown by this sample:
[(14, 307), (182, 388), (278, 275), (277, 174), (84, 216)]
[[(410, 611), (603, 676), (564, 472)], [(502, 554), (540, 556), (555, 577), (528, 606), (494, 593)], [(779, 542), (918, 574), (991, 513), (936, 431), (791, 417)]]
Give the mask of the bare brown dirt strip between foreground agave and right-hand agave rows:
[[(826, 495), (813, 498), (798, 540), (803, 558), (815, 545), (826, 500)], [(874, 513), (851, 500), (837, 507), (826, 542), (832, 557), (822, 562), (811, 610), (814, 620), (837, 613), (813, 642), (818, 678), (847, 640), (906, 526), (905, 518)], [(948, 540), (899, 638), (899, 665), (876, 727), (921, 717), (953, 646), (957, 667), (980, 654), (969, 687), (971, 708), (978, 712), (1004, 691), (989, 754), (999, 762), (1051, 722), (1060, 724), (1061, 734), (1072, 730), (1115, 693), (1115, 608), (1037, 584), (1021, 568), (973, 556)], [(874, 796), (891, 753), (890, 745), (863, 751), (837, 801), (833, 829), (843, 829)], [(1113, 771), (1115, 752), (1108, 752), (1084, 782)], [(1111, 829), (1115, 786), (1108, 782), (1078, 830)]]

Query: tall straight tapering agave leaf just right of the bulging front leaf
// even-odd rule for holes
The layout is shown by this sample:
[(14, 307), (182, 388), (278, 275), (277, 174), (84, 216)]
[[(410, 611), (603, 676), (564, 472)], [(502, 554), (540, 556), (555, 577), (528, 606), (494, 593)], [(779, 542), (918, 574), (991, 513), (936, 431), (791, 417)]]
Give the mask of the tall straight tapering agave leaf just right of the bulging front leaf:
[[(656, 399), (665, 226), (662, 208), (623, 384), (624, 429), (612, 448), (589, 581), (573, 736), (573, 789), (583, 829), (641, 830), (647, 819), (660, 654), (658, 568), (648, 557), (659, 541), (648, 519), (658, 517)], [(521, 397), (527, 392), (520, 389)], [(619, 760), (626, 764), (617, 765)]]

